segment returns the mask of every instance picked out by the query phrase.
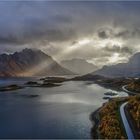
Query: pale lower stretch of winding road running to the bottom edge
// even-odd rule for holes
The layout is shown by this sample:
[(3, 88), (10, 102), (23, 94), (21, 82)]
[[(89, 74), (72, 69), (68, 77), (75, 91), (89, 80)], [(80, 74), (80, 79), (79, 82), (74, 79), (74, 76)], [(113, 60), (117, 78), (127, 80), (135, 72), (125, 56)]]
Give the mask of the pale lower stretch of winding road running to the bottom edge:
[(127, 138), (128, 139), (135, 139), (134, 135), (133, 135), (133, 132), (132, 132), (132, 129), (131, 129), (131, 127), (129, 125), (129, 122), (127, 120), (127, 117), (125, 115), (125, 111), (124, 111), (124, 107), (127, 105), (127, 103), (128, 102), (125, 102), (120, 106), (120, 115), (121, 115), (122, 122), (123, 122), (123, 125), (124, 125), (124, 128), (125, 128), (126, 134), (127, 134)]

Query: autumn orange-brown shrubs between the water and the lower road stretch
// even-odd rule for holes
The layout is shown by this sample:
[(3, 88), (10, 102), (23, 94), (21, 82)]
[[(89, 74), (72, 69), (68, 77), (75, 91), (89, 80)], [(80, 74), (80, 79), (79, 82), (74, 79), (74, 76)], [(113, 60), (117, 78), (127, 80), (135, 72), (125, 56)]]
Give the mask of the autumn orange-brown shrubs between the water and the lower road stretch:
[(98, 131), (100, 138), (125, 139), (126, 135), (119, 116), (119, 106), (126, 98), (112, 99), (99, 110), (100, 124)]

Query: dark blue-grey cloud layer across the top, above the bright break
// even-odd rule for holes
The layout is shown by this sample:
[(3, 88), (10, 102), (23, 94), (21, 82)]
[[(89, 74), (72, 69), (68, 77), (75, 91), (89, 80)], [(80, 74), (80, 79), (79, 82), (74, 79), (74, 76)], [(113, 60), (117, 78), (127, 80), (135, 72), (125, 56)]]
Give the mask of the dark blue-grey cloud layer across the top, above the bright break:
[[(7, 40), (10, 43), (11, 40), (11, 43), (28, 43), (37, 39), (44, 40), (44, 38), (50, 41), (72, 40), (75, 34), (79, 37), (87, 36), (92, 34), (98, 28), (97, 26), (110, 26), (114, 21), (117, 21), (117, 26), (124, 25), (128, 21), (129, 24), (135, 21), (139, 23), (135, 16), (140, 12), (139, 5), (138, 2), (95, 1), (0, 2), (0, 16), (3, 17), (0, 19), (0, 28), (5, 29), (0, 32), (1, 42), (4, 43)], [(108, 38), (111, 32), (105, 29), (99, 31), (98, 35), (101, 38)], [(6, 35), (3, 37), (3, 34)], [(116, 34), (116, 37), (120, 36), (127, 37), (127, 31)], [(3, 41), (2, 38), (4, 38)]]

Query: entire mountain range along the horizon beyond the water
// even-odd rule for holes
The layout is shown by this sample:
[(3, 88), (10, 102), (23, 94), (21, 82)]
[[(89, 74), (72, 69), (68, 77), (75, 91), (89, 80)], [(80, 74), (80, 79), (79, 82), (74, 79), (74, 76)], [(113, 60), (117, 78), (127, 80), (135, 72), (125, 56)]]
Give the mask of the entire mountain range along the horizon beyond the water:
[(26, 48), (21, 52), (0, 55), (1, 77), (73, 75), (75, 73), (89, 73), (90, 76), (104, 77), (139, 77), (140, 52), (134, 54), (127, 63), (104, 66), (99, 70), (84, 59), (65, 60), (59, 64), (51, 56), (37, 49)]

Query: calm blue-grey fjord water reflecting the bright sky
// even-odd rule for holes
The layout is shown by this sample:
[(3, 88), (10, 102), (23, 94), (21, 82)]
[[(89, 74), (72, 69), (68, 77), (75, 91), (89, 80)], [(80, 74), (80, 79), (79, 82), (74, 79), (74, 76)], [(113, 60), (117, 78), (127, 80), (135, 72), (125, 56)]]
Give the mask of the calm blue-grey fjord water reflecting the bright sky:
[[(27, 79), (1, 79), (0, 85)], [(108, 89), (86, 82), (0, 93), (0, 138), (91, 138), (91, 112)], [(36, 98), (23, 95), (38, 94)], [(126, 93), (119, 93), (126, 96)]]

